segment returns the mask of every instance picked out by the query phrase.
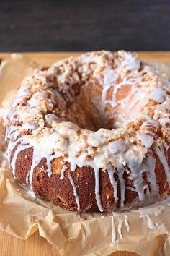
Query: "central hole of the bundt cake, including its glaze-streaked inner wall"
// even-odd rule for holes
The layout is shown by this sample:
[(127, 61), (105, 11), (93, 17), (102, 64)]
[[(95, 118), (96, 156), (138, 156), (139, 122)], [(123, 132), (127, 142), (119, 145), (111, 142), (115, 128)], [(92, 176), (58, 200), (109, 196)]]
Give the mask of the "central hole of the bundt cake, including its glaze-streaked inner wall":
[[(82, 129), (97, 131), (100, 128), (122, 127), (125, 121), (138, 115), (143, 104), (136, 97), (138, 91), (134, 92), (131, 84), (127, 82), (119, 87), (120, 82), (123, 82), (121, 75), (114, 83), (108, 82), (110, 86), (107, 88), (107, 85), (104, 85), (107, 88), (104, 95), (103, 82), (100, 83), (91, 74), (86, 78), (86, 82), (83, 82), (81, 77), (79, 82), (71, 85), (71, 89), (58, 91), (67, 106), (63, 107), (62, 103), (61, 106), (57, 104), (53, 113), (61, 121), (70, 121)], [(61, 102), (60, 97), (59, 102)]]

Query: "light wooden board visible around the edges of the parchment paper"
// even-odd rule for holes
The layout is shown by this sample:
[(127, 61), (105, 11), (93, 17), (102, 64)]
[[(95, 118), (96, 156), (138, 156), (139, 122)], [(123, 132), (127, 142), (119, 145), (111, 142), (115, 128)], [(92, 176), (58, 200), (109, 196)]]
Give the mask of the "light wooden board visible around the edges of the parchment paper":
[[(58, 59), (63, 59), (68, 56), (78, 56), (80, 53), (23, 53), (42, 65), (48, 65)], [(158, 51), (158, 52), (138, 52), (139, 56), (146, 61), (162, 61), (170, 63), (170, 51)], [(10, 58), (9, 53), (0, 53), (0, 59), (6, 60)], [(0, 231), (0, 255), (4, 256), (58, 256), (56, 249), (49, 244), (45, 239), (39, 236), (38, 232), (30, 236), (26, 241), (17, 239), (9, 234)], [(135, 253), (130, 252), (115, 252), (112, 256), (135, 256)]]

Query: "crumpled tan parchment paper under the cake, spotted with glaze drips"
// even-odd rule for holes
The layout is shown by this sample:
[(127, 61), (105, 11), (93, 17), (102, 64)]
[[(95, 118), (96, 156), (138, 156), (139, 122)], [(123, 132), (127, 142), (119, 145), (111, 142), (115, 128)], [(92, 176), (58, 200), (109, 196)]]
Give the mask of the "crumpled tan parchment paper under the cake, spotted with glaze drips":
[[(20, 54), (0, 66), (0, 132), (14, 90), (37, 66)], [(169, 65), (157, 64), (170, 74)], [(40, 200), (12, 178), (1, 147), (0, 229), (21, 239), (35, 231), (60, 255), (110, 255), (117, 250), (141, 256), (170, 255), (170, 199), (124, 213), (73, 213)]]

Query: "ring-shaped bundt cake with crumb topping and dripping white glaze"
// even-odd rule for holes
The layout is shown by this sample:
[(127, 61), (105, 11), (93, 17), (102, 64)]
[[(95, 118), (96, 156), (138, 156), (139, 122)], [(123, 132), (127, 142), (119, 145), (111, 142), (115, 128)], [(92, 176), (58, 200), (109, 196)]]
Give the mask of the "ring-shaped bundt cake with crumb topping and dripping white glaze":
[(5, 124), (12, 174), (69, 210), (138, 208), (170, 191), (170, 84), (126, 51), (36, 69)]

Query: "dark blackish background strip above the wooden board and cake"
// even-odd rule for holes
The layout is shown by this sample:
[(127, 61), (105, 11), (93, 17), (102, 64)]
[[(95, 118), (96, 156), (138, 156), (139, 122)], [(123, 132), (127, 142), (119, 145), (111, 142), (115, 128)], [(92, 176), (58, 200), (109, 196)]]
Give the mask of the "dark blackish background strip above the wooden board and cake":
[(0, 0), (0, 51), (170, 50), (170, 0)]

